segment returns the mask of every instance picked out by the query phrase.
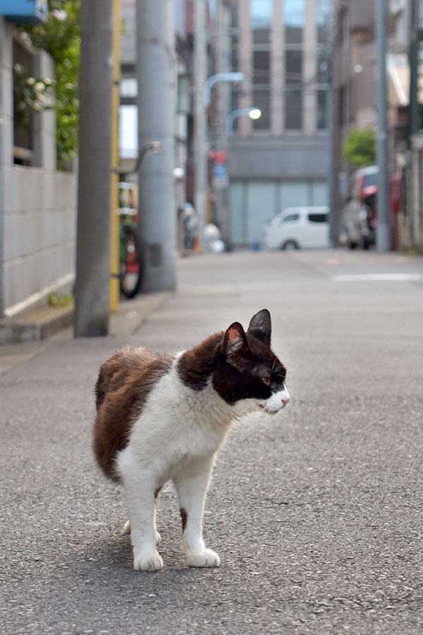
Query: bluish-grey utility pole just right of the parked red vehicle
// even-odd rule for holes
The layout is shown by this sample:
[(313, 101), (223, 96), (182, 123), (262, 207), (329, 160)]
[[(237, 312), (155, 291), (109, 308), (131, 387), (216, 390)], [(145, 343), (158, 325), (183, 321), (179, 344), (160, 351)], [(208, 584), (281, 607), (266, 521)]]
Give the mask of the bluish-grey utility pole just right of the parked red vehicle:
[(376, 24), (376, 104), (378, 115), (377, 126), (377, 164), (379, 181), (377, 190), (377, 225), (376, 248), (388, 251), (391, 248), (390, 204), (388, 180), (388, 113), (386, 87), (386, 0), (375, 0)]

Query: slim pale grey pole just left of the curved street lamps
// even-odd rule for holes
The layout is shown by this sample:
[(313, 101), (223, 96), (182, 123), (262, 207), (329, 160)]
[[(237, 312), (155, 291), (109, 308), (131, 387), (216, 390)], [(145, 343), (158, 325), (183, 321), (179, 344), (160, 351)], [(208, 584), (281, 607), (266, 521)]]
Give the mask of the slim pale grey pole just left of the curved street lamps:
[(195, 0), (194, 33), (195, 129), (194, 206), (198, 214), (200, 240), (206, 222), (207, 194), (207, 109), (204, 105), (204, 86), (207, 82), (206, 1)]

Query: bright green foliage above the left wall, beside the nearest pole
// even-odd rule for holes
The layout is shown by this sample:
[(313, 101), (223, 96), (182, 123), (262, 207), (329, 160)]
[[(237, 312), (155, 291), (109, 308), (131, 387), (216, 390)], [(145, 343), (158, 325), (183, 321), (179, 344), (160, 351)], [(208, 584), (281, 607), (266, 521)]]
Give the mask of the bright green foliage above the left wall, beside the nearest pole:
[(47, 22), (23, 30), (54, 59), (57, 161), (64, 169), (78, 154), (80, 0), (49, 0)]

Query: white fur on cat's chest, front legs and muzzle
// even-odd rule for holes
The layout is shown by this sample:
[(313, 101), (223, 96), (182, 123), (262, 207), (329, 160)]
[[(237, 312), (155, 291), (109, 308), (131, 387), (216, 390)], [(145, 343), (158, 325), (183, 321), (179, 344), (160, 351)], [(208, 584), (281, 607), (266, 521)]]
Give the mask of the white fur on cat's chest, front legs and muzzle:
[[(171, 370), (154, 385), (142, 413), (133, 424), (128, 445), (116, 458), (123, 480), (133, 543), (134, 569), (161, 569), (157, 552), (154, 492), (173, 480), (187, 521), (183, 550), (192, 567), (214, 567), (219, 556), (202, 540), (204, 498), (214, 456), (228, 434), (231, 422), (257, 407), (248, 399), (231, 406), (211, 385), (202, 390), (185, 385), (178, 375), (178, 353)], [(278, 411), (289, 399), (286, 389), (267, 400), (269, 411)], [(128, 525), (125, 526), (129, 530)]]

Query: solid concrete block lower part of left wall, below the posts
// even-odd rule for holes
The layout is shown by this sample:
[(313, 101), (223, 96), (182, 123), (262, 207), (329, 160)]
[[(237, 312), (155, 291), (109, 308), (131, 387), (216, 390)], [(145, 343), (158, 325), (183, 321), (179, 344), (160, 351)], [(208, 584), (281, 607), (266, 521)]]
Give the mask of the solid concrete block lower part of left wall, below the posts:
[[(74, 174), (9, 166), (4, 191), (4, 313), (69, 286), (75, 274)], [(18, 305), (18, 306), (16, 306)]]

